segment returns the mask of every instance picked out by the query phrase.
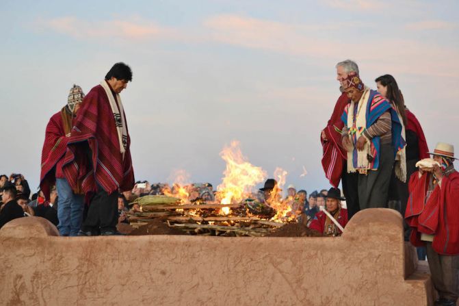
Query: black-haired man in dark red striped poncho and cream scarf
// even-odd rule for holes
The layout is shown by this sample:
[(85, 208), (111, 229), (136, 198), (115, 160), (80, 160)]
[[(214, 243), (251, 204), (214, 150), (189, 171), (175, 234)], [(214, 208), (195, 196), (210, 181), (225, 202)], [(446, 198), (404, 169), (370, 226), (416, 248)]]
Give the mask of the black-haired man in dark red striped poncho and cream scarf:
[(75, 119), (63, 170), (70, 186), (81, 186), (89, 203), (79, 235), (119, 234), (118, 192), (134, 186), (131, 139), (120, 98), (131, 80), (131, 68), (115, 64), (88, 92)]

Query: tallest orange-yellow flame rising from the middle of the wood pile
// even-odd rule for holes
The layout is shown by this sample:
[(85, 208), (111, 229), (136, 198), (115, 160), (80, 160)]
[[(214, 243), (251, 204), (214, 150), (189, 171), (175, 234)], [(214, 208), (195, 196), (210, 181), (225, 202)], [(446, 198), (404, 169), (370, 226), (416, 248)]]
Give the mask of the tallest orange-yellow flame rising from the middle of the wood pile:
[[(265, 171), (253, 166), (242, 155), (240, 143), (233, 140), (230, 146), (224, 146), (220, 156), (226, 162), (222, 183), (217, 187), (217, 199), (222, 204), (239, 203), (250, 194), (252, 188), (264, 181)], [(222, 214), (229, 214), (231, 209), (223, 207)]]

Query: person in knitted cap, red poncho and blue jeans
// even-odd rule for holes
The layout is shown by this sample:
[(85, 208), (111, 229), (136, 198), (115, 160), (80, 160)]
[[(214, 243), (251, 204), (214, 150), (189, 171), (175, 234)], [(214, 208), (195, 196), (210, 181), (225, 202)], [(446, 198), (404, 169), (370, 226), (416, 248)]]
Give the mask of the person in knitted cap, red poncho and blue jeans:
[(72, 121), (83, 98), (84, 93), (80, 86), (74, 85), (70, 88), (67, 105), (49, 119), (42, 149), (40, 188), (46, 199), (43, 205), (47, 206), (51, 200), (50, 189), (55, 184), (59, 194), (57, 229), (62, 236), (78, 235), (83, 219), (83, 196), (73, 192), (62, 172)]

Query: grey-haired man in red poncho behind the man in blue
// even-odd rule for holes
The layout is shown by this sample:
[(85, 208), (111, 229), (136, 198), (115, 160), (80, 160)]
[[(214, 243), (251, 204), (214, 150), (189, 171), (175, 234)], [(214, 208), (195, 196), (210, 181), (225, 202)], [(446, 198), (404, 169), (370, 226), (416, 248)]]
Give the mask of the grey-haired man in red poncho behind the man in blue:
[(335, 109), (333, 110), (327, 126), (321, 132), (321, 142), (324, 155), (322, 157), (322, 166), (327, 179), (332, 186), (338, 188), (339, 181), (343, 185), (343, 192), (346, 198), (348, 218), (352, 218), (360, 210), (358, 203), (358, 174), (347, 173), (347, 153), (341, 143), (341, 130), (343, 121), (341, 115), (345, 106), (350, 103), (350, 99), (345, 94), (341, 86), (341, 80), (347, 78), (350, 73), (358, 74), (358, 66), (352, 60), (345, 60), (336, 65), (337, 81), (340, 82), (340, 92)]

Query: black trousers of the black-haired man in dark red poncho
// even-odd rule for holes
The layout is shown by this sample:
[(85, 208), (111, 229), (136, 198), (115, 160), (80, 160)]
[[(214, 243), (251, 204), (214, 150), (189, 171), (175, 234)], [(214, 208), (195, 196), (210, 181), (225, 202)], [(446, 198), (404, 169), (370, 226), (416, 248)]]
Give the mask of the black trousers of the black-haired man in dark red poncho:
[(118, 224), (118, 192), (108, 194), (101, 186), (92, 196), (88, 207), (88, 215), (81, 225), (82, 231), (93, 233), (116, 231)]

